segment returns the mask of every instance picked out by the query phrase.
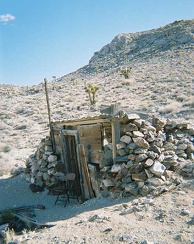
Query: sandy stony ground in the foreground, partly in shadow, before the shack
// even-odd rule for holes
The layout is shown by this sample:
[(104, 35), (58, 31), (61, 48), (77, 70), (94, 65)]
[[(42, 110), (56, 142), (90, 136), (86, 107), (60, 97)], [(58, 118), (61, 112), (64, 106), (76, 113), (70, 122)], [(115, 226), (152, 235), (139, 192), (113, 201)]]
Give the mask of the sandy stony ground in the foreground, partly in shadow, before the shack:
[(0, 209), (41, 204), (34, 220), (54, 226), (9, 236), (14, 243), (194, 243), (193, 180), (160, 196), (72, 200), (65, 208), (28, 184), (24, 174), (1, 177)]

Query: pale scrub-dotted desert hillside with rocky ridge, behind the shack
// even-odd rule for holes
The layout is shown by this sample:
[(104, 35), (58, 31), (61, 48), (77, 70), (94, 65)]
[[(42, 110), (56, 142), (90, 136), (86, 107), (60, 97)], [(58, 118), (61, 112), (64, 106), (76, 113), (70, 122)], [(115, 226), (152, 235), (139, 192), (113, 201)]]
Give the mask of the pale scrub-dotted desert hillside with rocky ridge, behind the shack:
[[(141, 116), (161, 115), (194, 123), (194, 20), (138, 33), (119, 34), (89, 64), (48, 83), (52, 120), (99, 113), (118, 102)], [(131, 67), (131, 68), (130, 68)], [(128, 69), (128, 77), (121, 71)], [(84, 87), (99, 87), (90, 106)], [(0, 174), (24, 164), (48, 133), (43, 84), (0, 85)], [(5, 163), (6, 162), (6, 163)], [(2, 170), (3, 169), (3, 170)]]

